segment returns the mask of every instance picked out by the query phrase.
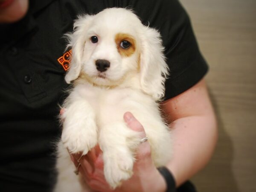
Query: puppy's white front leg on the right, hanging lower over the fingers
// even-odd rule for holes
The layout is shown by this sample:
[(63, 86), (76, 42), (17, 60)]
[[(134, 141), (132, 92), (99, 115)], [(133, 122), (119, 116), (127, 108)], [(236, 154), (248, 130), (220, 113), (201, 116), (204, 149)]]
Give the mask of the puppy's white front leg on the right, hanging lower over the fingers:
[(127, 128), (124, 122), (101, 128), (99, 145), (103, 151), (104, 174), (113, 189), (133, 174), (134, 154), (139, 143), (139, 133)]

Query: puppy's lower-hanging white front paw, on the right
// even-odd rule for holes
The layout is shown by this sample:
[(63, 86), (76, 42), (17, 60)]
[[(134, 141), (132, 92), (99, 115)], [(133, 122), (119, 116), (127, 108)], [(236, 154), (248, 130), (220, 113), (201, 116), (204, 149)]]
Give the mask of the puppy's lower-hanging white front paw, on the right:
[(104, 173), (107, 182), (115, 189), (122, 180), (128, 180), (133, 174), (133, 156), (127, 153), (106, 153), (104, 154)]

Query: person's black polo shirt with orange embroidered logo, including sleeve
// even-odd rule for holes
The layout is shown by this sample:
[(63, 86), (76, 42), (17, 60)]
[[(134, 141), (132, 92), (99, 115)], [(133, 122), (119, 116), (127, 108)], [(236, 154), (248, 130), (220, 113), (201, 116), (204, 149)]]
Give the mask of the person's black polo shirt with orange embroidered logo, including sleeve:
[(207, 72), (189, 17), (177, 0), (31, 0), (22, 20), (0, 25), (0, 191), (50, 191), (55, 182), (58, 104), (69, 53), (63, 34), (78, 14), (106, 7), (134, 9), (160, 30), (170, 67), (166, 99)]

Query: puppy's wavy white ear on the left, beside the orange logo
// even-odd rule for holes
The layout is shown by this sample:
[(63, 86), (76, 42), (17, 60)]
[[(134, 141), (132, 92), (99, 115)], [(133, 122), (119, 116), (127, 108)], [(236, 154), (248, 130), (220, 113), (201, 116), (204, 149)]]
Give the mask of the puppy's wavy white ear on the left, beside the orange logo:
[(80, 74), (82, 67), (81, 59), (84, 52), (84, 44), (86, 38), (84, 34), (89, 28), (92, 20), (93, 15), (79, 16), (74, 23), (74, 32), (65, 34), (68, 39), (67, 48), (72, 48), (70, 68), (65, 76), (65, 81), (67, 83), (77, 79)]

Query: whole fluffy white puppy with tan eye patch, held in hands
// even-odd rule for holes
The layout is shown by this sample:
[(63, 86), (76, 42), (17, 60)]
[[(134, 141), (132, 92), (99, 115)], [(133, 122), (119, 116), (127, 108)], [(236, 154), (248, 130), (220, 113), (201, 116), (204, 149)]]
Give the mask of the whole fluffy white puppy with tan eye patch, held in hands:
[(73, 89), (63, 105), (55, 192), (90, 191), (73, 173), (66, 148), (87, 154), (99, 143), (110, 186), (131, 177), (141, 136), (125, 124), (126, 111), (143, 125), (155, 165), (165, 165), (170, 133), (157, 101), (164, 95), (168, 67), (159, 32), (130, 10), (110, 8), (80, 16), (67, 36), (72, 61), (65, 80)]

